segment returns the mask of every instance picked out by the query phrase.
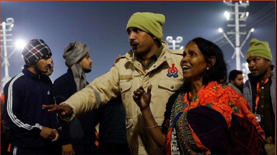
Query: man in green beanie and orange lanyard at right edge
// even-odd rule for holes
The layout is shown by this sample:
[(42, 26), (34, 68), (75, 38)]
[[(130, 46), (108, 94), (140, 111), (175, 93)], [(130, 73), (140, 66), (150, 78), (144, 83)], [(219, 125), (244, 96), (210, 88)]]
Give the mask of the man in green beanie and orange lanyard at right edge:
[(250, 74), (244, 98), (266, 134), (266, 151), (275, 154), (275, 73), (268, 42), (252, 39), (246, 54)]

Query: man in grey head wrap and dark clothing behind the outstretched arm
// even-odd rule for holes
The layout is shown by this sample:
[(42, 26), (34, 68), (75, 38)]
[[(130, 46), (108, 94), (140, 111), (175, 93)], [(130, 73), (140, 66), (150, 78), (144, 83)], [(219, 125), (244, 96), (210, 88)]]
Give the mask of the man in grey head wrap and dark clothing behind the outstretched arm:
[[(84, 88), (88, 82), (84, 73), (91, 72), (92, 60), (89, 48), (84, 42), (76, 41), (65, 47), (63, 58), (68, 67), (67, 73), (54, 81), (53, 94), (57, 104)], [(62, 125), (62, 154), (97, 154), (95, 145), (95, 111), (78, 116), (71, 122), (59, 118)]]

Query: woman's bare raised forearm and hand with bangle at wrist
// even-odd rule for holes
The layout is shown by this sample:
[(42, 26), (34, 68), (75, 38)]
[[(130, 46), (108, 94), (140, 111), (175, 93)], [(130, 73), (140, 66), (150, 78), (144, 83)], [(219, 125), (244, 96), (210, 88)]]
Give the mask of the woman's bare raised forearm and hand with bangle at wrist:
[(158, 144), (161, 150), (165, 150), (165, 140), (166, 137), (161, 132), (161, 128), (158, 127), (157, 122), (155, 121), (151, 109), (149, 107), (151, 101), (151, 88), (152, 85), (148, 86), (147, 93), (144, 91), (143, 87), (140, 86), (136, 91), (134, 91), (133, 99), (135, 103), (140, 108), (142, 116), (145, 120), (148, 131), (150, 132), (151, 137)]

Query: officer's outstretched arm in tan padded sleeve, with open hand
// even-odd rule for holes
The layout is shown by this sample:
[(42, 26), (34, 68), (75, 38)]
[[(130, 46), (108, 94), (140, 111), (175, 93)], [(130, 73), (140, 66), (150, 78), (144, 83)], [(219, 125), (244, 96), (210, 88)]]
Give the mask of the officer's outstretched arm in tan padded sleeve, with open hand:
[[(63, 120), (70, 121), (75, 116), (87, 113), (106, 104), (119, 94), (119, 72), (116, 63), (110, 72), (94, 79), (82, 90), (76, 92), (60, 105), (43, 106), (44, 109), (59, 113)], [(69, 116), (68, 116), (69, 115)]]

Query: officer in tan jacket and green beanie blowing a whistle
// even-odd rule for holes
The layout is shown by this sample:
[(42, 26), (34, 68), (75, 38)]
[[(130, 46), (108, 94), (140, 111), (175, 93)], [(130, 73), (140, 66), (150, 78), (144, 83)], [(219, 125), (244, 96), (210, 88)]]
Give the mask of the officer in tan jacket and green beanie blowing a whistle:
[(183, 85), (179, 65), (183, 50), (169, 50), (168, 44), (162, 41), (164, 22), (162, 14), (133, 14), (126, 27), (132, 49), (116, 58), (110, 72), (96, 78), (60, 105), (43, 105), (43, 108), (56, 111), (70, 121), (76, 115), (98, 108), (121, 95), (131, 153), (164, 154), (148, 133), (149, 127), (132, 98), (133, 92), (141, 85), (144, 89), (152, 85), (151, 110), (157, 122), (154, 127), (159, 127), (164, 121), (168, 98)]

